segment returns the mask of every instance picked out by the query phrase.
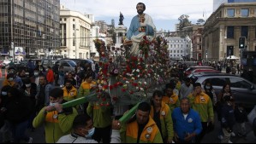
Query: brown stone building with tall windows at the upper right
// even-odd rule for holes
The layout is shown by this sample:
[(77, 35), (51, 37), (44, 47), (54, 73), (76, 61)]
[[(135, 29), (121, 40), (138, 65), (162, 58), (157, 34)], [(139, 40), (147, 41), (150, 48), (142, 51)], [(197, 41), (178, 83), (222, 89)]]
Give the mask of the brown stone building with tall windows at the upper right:
[(206, 20), (202, 33), (203, 57), (226, 60), (240, 57), (239, 38), (246, 37), (246, 49), (256, 50), (256, 3), (223, 3)]

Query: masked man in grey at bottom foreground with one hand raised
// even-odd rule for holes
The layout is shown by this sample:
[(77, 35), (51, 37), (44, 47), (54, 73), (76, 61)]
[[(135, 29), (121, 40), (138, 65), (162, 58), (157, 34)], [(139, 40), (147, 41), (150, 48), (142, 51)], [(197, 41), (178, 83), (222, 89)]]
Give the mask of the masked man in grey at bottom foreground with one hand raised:
[[(113, 120), (110, 143), (121, 143), (120, 128), (120, 122)], [(98, 141), (92, 139), (94, 131), (92, 118), (86, 114), (80, 114), (74, 118), (71, 134), (61, 137), (57, 143), (98, 143)]]

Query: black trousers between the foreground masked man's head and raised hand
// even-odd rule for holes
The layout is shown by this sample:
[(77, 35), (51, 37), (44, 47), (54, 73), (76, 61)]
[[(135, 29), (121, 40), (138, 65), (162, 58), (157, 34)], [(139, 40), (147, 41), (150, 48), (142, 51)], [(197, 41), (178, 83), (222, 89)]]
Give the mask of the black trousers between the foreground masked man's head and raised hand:
[(95, 128), (94, 135), (92, 135), (92, 139), (98, 141), (98, 143), (102, 140), (103, 143), (110, 143), (110, 135), (111, 135), (111, 125), (105, 128)]

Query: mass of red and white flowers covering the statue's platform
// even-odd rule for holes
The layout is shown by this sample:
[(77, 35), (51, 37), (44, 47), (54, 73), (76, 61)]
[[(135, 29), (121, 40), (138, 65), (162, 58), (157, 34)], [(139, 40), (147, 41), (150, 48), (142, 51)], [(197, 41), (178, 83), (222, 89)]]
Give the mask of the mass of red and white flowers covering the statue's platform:
[[(96, 90), (100, 106), (137, 103), (150, 97), (149, 94), (160, 84), (169, 82), (170, 57), (168, 42), (163, 37), (156, 37), (152, 42), (143, 37), (139, 45), (140, 55), (128, 58), (122, 48), (105, 46), (99, 39), (93, 42), (100, 54)], [(124, 101), (123, 96), (130, 97), (130, 100)]]

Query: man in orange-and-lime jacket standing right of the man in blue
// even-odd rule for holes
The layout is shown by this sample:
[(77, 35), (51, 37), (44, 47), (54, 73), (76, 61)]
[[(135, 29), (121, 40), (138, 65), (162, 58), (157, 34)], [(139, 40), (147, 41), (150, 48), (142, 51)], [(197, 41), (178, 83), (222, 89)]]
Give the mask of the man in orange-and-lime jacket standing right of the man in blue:
[(188, 99), (190, 100), (193, 110), (199, 112), (201, 118), (203, 130), (195, 139), (196, 143), (200, 143), (206, 134), (207, 125), (214, 124), (212, 101), (210, 96), (202, 91), (201, 84), (199, 83), (193, 85), (193, 93), (188, 95)]

